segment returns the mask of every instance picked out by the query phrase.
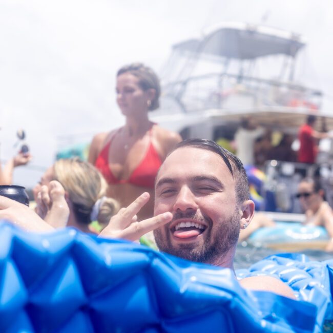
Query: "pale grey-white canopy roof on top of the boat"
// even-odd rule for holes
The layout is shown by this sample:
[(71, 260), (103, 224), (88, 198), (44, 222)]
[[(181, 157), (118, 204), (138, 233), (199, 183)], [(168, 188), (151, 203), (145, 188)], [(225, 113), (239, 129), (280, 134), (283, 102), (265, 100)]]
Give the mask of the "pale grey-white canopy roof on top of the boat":
[(226, 58), (254, 59), (285, 54), (295, 57), (305, 46), (295, 33), (246, 23), (222, 23), (206, 30), (201, 38), (192, 38), (173, 46), (175, 51)]

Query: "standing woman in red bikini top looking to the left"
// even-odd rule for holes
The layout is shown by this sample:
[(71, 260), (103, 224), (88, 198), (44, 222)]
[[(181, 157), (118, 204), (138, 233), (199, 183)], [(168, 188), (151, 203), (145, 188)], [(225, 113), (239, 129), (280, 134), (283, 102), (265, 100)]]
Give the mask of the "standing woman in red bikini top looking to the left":
[(120, 68), (116, 92), (126, 123), (117, 130), (97, 134), (88, 160), (101, 171), (109, 184), (108, 196), (120, 206), (128, 206), (143, 192), (150, 193), (149, 203), (138, 214), (140, 221), (153, 216), (155, 176), (181, 137), (148, 119), (148, 111), (159, 107), (160, 95), (159, 80), (152, 69), (142, 64)]

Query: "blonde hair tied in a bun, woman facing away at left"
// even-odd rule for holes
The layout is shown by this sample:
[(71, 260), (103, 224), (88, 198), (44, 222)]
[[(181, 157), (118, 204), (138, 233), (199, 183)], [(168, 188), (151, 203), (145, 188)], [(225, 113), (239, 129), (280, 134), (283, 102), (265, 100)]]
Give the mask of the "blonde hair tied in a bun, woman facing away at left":
[[(91, 222), (91, 212), (96, 201), (106, 195), (107, 183), (92, 164), (79, 158), (59, 159), (54, 165), (54, 179), (64, 186), (80, 223)], [(115, 199), (104, 198), (99, 208), (97, 221), (107, 225), (119, 210)]]

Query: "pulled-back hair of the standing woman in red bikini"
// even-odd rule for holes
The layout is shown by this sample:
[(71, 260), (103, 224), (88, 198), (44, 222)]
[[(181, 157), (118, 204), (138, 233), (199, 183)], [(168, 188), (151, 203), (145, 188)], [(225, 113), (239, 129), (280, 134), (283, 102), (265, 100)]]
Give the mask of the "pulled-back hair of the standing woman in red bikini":
[(151, 105), (149, 106), (149, 110), (153, 111), (159, 108), (159, 96), (161, 94), (161, 87), (159, 84), (159, 79), (155, 72), (147, 66), (144, 66), (141, 63), (134, 63), (131, 65), (126, 65), (121, 67), (118, 72), (117, 76), (123, 73), (130, 73), (136, 76), (139, 79), (139, 86), (143, 91), (148, 89), (155, 90), (155, 96), (151, 100)]

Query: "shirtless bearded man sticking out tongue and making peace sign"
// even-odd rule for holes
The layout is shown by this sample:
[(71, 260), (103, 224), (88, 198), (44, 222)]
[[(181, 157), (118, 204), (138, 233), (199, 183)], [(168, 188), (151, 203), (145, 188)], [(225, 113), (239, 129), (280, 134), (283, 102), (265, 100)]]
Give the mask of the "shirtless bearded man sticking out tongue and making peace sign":
[[(213, 141), (180, 142), (157, 174), (154, 217), (138, 222), (137, 213), (148, 201), (145, 192), (113, 216), (100, 236), (137, 240), (154, 230), (161, 251), (234, 270), (239, 232), (254, 214), (245, 170), (236, 156)], [(12, 200), (0, 199), (0, 218), (15, 212), (9, 204)], [(292, 289), (273, 277), (248, 277), (240, 284), (295, 298)]]

